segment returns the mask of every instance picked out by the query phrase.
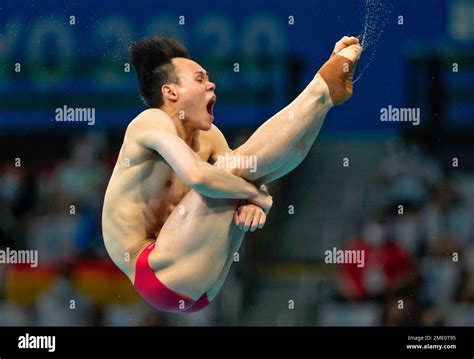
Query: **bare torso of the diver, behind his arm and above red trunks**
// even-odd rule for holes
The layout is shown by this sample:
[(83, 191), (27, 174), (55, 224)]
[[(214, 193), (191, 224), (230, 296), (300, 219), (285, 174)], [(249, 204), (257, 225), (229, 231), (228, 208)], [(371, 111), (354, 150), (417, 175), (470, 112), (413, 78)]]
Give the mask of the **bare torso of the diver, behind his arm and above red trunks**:
[[(150, 131), (152, 121), (162, 114), (158, 109), (146, 110), (130, 123), (104, 198), (102, 232), (107, 252), (132, 281), (138, 254), (157, 238), (190, 190), (157, 152), (137, 141), (138, 134)], [(191, 148), (207, 162), (212, 152), (209, 134), (199, 131)]]

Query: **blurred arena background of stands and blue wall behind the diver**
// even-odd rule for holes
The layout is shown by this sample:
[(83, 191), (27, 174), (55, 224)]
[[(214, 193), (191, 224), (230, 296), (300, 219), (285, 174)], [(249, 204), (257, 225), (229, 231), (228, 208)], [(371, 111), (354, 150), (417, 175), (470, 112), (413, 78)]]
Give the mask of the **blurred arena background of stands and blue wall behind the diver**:
[[(4, 1), (0, 246), (37, 250), (39, 265), (0, 264), (0, 325), (473, 325), (473, 18), (472, 0)], [(127, 47), (158, 33), (211, 74), (233, 147), (340, 37), (366, 45), (352, 99), (270, 184), (265, 228), (192, 315), (144, 303), (101, 237), (123, 134), (144, 109)], [(64, 106), (93, 121), (58, 121)], [(420, 109), (419, 125), (382, 121), (389, 106)], [(333, 248), (363, 251), (364, 266), (326, 263)]]

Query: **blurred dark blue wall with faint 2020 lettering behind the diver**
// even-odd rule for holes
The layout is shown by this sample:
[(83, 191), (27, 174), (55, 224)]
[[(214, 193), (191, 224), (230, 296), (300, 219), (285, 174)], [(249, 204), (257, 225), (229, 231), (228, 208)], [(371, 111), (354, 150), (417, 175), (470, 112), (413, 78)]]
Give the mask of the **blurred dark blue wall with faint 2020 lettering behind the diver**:
[[(365, 3), (219, 1), (203, 6), (186, 1), (171, 5), (168, 1), (107, 0), (2, 4), (0, 126), (38, 130), (57, 127), (51, 122), (54, 109), (76, 104), (96, 107), (97, 126), (123, 128), (143, 108), (133, 68), (128, 73), (123, 70), (127, 47), (143, 36), (164, 32), (181, 39), (192, 56), (211, 72), (218, 95), (223, 91), (251, 93), (257, 87), (274, 91), (268, 103), (259, 103), (251, 95), (240, 103), (233, 103), (228, 95), (220, 97), (216, 107), (219, 127), (256, 127), (291, 100), (285, 92), (287, 87), (294, 91), (304, 88), (341, 36), (363, 32)], [(353, 101), (329, 116), (337, 120), (326, 122), (326, 134), (393, 132), (397, 125), (381, 122), (379, 113), (388, 105), (406, 105), (404, 56), (410, 52), (410, 43), (416, 44), (418, 52), (443, 48), (448, 36), (446, 1), (383, 4), (377, 13), (383, 15), (379, 20), (386, 17), (387, 24), (376, 23), (381, 30), (380, 41), (366, 49), (359, 71), (371, 56), (373, 61), (355, 85)], [(397, 24), (400, 15), (404, 17), (403, 26)], [(75, 16), (75, 25), (69, 24), (70, 16)], [(179, 16), (184, 16), (184, 25), (179, 25)], [(289, 16), (294, 16), (292, 26), (288, 25)], [(282, 62), (269, 71), (252, 70), (242, 64), (237, 76), (231, 65), (247, 55)], [(221, 57), (230, 59), (230, 66), (213, 72), (209, 63)], [(302, 64), (299, 78), (285, 67), (284, 59)], [(48, 61), (52, 62), (49, 70)], [(17, 62), (22, 64), (21, 76), (12, 71)], [(128, 103), (122, 103), (116, 94), (128, 98)], [(6, 95), (23, 100), (20, 105), (12, 105)], [(99, 95), (109, 101), (96, 104), (94, 99)], [(84, 124), (69, 126), (80, 128)]]

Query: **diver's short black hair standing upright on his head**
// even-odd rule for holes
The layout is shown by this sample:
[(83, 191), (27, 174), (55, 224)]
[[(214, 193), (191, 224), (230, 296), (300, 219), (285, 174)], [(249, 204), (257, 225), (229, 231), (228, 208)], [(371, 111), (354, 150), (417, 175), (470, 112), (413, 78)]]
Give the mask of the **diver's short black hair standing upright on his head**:
[(175, 57), (189, 58), (188, 50), (175, 39), (155, 36), (132, 43), (129, 55), (137, 73), (140, 98), (148, 107), (161, 107), (164, 103), (161, 87), (169, 83), (179, 84), (171, 60)]

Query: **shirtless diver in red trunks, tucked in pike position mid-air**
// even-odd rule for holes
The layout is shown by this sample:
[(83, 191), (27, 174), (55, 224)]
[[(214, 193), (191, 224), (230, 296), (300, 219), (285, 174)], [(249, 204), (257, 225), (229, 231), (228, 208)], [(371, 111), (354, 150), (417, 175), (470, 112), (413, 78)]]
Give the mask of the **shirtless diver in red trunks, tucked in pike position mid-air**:
[[(102, 230), (110, 257), (147, 302), (194, 312), (216, 297), (245, 232), (261, 228), (272, 206), (261, 186), (298, 166), (327, 112), (352, 95), (361, 51), (357, 38), (343, 37), (303, 92), (231, 150), (212, 123), (216, 85), (187, 50), (163, 36), (131, 45), (149, 108), (125, 132)], [(257, 166), (226, 166), (229, 156), (253, 156)]]

